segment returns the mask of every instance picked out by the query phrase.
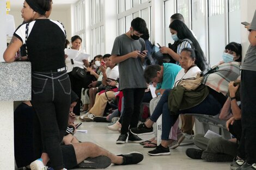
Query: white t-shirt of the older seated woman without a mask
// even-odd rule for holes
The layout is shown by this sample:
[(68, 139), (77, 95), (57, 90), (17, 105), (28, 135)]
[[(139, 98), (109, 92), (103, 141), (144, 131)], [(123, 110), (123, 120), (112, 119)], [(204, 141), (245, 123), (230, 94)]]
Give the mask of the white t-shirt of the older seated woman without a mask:
[(198, 66), (191, 67), (190, 70), (188, 70), (186, 73), (184, 72), (184, 68), (182, 68), (179, 73), (176, 75), (175, 83), (173, 87), (177, 86), (177, 81), (181, 79), (187, 79), (187, 78), (193, 78), (197, 76), (197, 73), (201, 72), (200, 68)]

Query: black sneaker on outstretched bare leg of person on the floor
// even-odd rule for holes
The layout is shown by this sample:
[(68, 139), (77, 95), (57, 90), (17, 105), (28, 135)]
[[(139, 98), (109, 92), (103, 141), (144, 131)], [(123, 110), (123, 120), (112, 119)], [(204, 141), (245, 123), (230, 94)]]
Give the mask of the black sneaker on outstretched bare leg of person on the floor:
[(123, 156), (124, 162), (121, 165), (131, 165), (137, 164), (143, 160), (143, 154), (139, 152), (131, 152), (129, 154), (121, 154), (118, 156)]

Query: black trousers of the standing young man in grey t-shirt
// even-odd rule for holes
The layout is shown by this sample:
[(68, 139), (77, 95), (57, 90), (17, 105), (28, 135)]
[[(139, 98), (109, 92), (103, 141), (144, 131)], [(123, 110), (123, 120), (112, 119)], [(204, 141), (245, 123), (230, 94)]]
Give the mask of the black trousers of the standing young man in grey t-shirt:
[(141, 104), (145, 89), (123, 89), (124, 112), (122, 116), (121, 134), (127, 134), (130, 128), (136, 128), (139, 122)]

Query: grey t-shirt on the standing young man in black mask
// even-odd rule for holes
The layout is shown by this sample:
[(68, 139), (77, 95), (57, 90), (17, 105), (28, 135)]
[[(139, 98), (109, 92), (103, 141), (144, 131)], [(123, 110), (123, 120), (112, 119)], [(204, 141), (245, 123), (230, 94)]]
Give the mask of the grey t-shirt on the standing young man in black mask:
[[(132, 40), (126, 34), (115, 38), (111, 54), (123, 56), (133, 51), (144, 51), (145, 41), (142, 38)], [(119, 63), (119, 90), (147, 88), (143, 77), (141, 58), (129, 58)]]

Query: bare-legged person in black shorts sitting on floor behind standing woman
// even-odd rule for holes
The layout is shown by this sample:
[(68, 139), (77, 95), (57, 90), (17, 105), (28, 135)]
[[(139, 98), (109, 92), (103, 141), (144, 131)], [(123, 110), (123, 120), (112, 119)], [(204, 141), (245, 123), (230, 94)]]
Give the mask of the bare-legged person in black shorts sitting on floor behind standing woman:
[[(71, 104), (72, 105), (72, 104)], [(29, 167), (34, 161), (32, 119), (35, 112), (29, 101), (21, 103), (14, 112), (14, 139), (15, 160), (17, 167)], [(71, 134), (64, 136), (65, 143), (61, 144), (65, 168), (106, 168), (111, 163), (115, 165), (136, 164), (143, 160), (143, 154), (132, 152), (130, 154), (114, 155), (108, 150), (92, 142), (79, 142)], [(86, 160), (86, 161), (84, 161)], [(39, 159), (38, 161), (42, 161)], [(87, 163), (89, 161), (89, 163)], [(51, 166), (51, 162), (45, 163)]]

